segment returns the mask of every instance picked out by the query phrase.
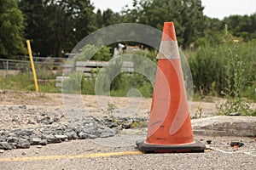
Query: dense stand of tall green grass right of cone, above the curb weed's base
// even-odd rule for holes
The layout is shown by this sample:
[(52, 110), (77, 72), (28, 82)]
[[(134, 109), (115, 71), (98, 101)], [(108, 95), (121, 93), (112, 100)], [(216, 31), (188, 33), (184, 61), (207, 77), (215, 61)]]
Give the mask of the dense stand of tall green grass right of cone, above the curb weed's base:
[(235, 46), (231, 39), (214, 48), (207, 46), (188, 53), (195, 91), (220, 96), (224, 92), (233, 97), (239, 93), (255, 100), (255, 46), (256, 42), (239, 42)]

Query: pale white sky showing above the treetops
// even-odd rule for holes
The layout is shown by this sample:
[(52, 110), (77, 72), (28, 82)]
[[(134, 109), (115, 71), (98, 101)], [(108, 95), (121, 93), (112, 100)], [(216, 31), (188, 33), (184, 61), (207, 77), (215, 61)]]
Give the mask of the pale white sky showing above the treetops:
[[(111, 8), (114, 12), (119, 12), (128, 4), (132, 7), (132, 0), (90, 0), (95, 4), (96, 9), (105, 10)], [(253, 14), (256, 13), (256, 0), (201, 0), (205, 7), (204, 14), (211, 18), (222, 20), (230, 14)]]

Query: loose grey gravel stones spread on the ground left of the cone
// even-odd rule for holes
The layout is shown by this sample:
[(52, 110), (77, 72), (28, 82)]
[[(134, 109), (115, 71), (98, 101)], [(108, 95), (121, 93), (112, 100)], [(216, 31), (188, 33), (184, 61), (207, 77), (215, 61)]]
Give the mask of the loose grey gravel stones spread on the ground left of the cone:
[[(61, 143), (72, 139), (107, 138), (122, 129), (145, 126), (147, 118), (119, 116), (79, 116), (67, 120), (59, 109), (29, 108), (26, 105), (2, 106), (0, 149), (27, 149), (31, 145)], [(140, 124), (139, 124), (140, 122)]]

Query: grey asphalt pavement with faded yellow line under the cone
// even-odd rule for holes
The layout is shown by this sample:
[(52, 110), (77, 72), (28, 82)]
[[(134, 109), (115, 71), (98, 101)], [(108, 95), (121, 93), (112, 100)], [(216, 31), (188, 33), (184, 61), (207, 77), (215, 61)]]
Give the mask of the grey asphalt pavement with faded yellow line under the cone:
[[(136, 140), (145, 134), (130, 130), (104, 139), (4, 150), (0, 169), (256, 169), (255, 138), (195, 135), (207, 145), (203, 153), (144, 154)], [(243, 145), (233, 148), (231, 142)]]

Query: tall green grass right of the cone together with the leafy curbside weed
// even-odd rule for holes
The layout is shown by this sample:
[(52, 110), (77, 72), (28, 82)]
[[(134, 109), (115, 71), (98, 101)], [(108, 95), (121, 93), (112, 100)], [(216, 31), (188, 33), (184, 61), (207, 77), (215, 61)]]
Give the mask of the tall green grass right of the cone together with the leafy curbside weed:
[(255, 101), (255, 41), (242, 42), (233, 37), (228, 27), (218, 35), (218, 45), (197, 48), (189, 53), (189, 65), (194, 78), (195, 92), (222, 96), (225, 101), (217, 105), (218, 114), (241, 112), (253, 116), (250, 104), (243, 97)]

